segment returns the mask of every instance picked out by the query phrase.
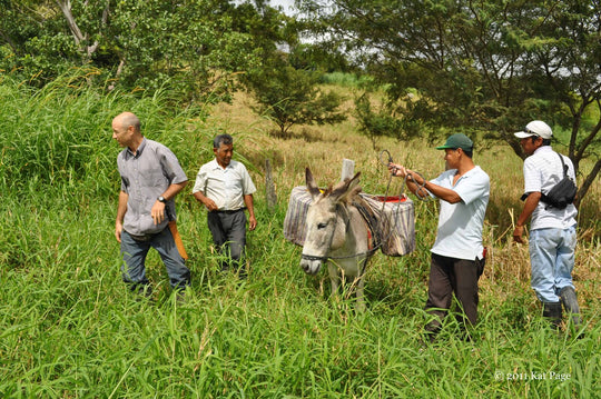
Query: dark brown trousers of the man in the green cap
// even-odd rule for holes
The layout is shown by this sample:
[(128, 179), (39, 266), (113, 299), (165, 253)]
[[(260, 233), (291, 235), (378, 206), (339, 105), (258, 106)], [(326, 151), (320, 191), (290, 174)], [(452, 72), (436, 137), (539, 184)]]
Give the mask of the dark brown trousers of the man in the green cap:
[(471, 325), (477, 320), (477, 280), (484, 270), (485, 260), (465, 260), (442, 257), (432, 253), (430, 267), (430, 281), (427, 289), (426, 311), (436, 318), (431, 321), (426, 330), (435, 332), (451, 308), (453, 292), (457, 298), (463, 315)]

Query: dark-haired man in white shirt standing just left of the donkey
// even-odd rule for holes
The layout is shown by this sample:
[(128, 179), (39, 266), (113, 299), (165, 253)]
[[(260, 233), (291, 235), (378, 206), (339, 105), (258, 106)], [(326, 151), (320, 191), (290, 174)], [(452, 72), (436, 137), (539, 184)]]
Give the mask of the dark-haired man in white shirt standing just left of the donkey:
[(207, 222), (213, 242), (220, 253), (228, 256), (221, 262), (221, 270), (238, 269), (240, 278), (246, 277), (244, 252), (246, 246), (246, 213), (248, 230), (257, 226), (253, 193), (255, 184), (246, 167), (231, 159), (234, 139), (219, 134), (213, 140), (215, 159), (200, 167), (196, 176), (193, 194), (207, 210)]

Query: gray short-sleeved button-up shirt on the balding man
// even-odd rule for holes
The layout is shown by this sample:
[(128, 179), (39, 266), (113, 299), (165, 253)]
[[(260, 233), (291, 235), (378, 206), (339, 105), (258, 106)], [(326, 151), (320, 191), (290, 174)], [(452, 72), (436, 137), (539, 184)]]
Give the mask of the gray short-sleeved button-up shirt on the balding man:
[[(159, 232), (167, 227), (168, 216), (155, 225), (150, 210), (169, 186), (188, 180), (176, 156), (164, 144), (144, 139), (136, 154), (125, 148), (117, 157), (121, 174), (121, 191), (129, 198), (124, 229), (136, 236)], [(175, 218), (175, 200), (167, 201), (165, 210)]]

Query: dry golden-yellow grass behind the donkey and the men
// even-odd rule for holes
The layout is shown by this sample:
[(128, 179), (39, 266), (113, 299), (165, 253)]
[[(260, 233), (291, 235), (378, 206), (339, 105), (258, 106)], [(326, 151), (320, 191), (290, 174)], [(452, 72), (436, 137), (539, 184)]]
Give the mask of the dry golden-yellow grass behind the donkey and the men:
[[(296, 126), (287, 138), (278, 137), (275, 124), (255, 114), (252, 104), (252, 98), (238, 93), (231, 104), (216, 106), (207, 124), (235, 137), (236, 151), (255, 167), (254, 177), (259, 184), (264, 181), (265, 160), (270, 160), (280, 207), (286, 207), (293, 187), (304, 184), (304, 170), (307, 166), (318, 183), (327, 186), (339, 179), (343, 159), (352, 159), (355, 161), (355, 171), (362, 173), (363, 190), (368, 193), (384, 193), (388, 186), (387, 171), (378, 160), (383, 149), (391, 152), (395, 162), (406, 164), (426, 178), (434, 178), (444, 168), (442, 151), (434, 149), (439, 143), (425, 140), (398, 142), (391, 138), (381, 138), (373, 143), (361, 136), (352, 116), (351, 99), (345, 103), (351, 112), (347, 121), (337, 126)], [(530, 285), (528, 246), (511, 240), (513, 222), (522, 209), (519, 200), (523, 190), (522, 160), (504, 143), (489, 147), (480, 151), (476, 147), (474, 154), (475, 163), (491, 177), (491, 200), (484, 232), (490, 251), (481, 280), (483, 301), (489, 298), (492, 302), (503, 302), (510, 297), (519, 298), (526, 301), (526, 313), (533, 316), (538, 313), (540, 305), (533, 292), (524, 293), (529, 292)], [(562, 149), (559, 148), (559, 151)], [(591, 163), (583, 162), (583, 167), (591, 168)], [(401, 188), (401, 181), (393, 180), (388, 192), (396, 194)], [(583, 311), (594, 316), (591, 323), (597, 323), (601, 305), (598, 295), (601, 289), (600, 198), (601, 183), (597, 179), (579, 213), (580, 243), (573, 273)], [(416, 202), (415, 209), (416, 236), (421, 241), (418, 250), (427, 251), (435, 236), (436, 205)], [(427, 262), (427, 255), (412, 257), (420, 258), (421, 263)], [(381, 257), (380, 262), (391, 265), (396, 259)], [(427, 268), (427, 265), (422, 267)], [(374, 269), (377, 269), (377, 263)]]

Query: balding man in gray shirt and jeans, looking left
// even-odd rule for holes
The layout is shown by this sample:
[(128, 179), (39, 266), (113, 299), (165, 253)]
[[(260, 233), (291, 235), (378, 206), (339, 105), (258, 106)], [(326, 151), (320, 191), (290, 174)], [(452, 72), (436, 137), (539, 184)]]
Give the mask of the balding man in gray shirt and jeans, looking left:
[(125, 147), (117, 157), (121, 191), (115, 237), (121, 243), (124, 281), (132, 291), (149, 295), (145, 259), (155, 248), (165, 262), (174, 289), (189, 285), (190, 271), (168, 228), (175, 219), (175, 196), (188, 178), (176, 156), (165, 146), (146, 139), (140, 120), (124, 112), (112, 120), (112, 138)]

